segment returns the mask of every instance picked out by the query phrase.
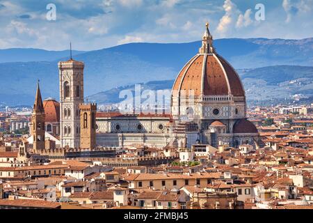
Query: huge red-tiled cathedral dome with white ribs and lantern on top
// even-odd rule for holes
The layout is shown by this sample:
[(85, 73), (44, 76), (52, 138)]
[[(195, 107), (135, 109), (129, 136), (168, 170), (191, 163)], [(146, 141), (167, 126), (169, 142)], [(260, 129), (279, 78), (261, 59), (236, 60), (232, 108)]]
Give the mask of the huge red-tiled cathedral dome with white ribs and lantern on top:
[(243, 84), (234, 68), (222, 56), (216, 54), (212, 45), (212, 36), (207, 31), (202, 37), (199, 54), (186, 63), (177, 76), (173, 93), (193, 91), (195, 97), (200, 95), (233, 95), (245, 97)]

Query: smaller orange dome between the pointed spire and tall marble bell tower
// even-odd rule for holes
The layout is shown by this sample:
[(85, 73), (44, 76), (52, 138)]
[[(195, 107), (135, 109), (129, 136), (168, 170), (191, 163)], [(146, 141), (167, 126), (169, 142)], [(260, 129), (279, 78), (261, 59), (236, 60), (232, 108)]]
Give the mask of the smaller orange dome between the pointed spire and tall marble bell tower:
[(46, 123), (59, 123), (60, 122), (60, 103), (54, 98), (47, 98), (43, 102), (45, 109), (45, 122)]

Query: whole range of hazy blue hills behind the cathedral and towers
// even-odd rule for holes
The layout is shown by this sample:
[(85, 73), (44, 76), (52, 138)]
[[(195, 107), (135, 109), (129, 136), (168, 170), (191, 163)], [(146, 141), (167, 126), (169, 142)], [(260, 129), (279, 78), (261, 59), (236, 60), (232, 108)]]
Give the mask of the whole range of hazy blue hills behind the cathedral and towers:
[[(150, 88), (152, 82), (154, 87), (168, 88), (171, 86), (170, 81), (164, 86), (166, 82), (160, 82), (160, 86), (155, 83), (175, 79), (184, 64), (198, 52), (200, 45), (200, 41), (180, 44), (131, 43), (90, 52), (73, 52), (73, 55), (74, 59), (84, 61), (86, 64), (85, 96), (93, 95), (91, 99), (99, 97), (99, 92), (105, 92), (107, 95), (101, 97), (111, 102), (114, 100), (111, 96), (115, 94), (114, 91), (136, 83), (147, 83), (147, 88)], [(312, 93), (310, 83), (313, 79), (313, 70), (301, 66), (313, 65), (313, 38), (220, 39), (214, 40), (214, 46), (218, 54), (239, 70), (248, 100), (268, 100), (273, 93), (271, 89), (275, 88), (282, 88), (280, 93), (273, 94), (279, 98), (290, 97), (295, 93), (308, 95)], [(0, 62), (11, 61), (0, 63), (0, 87), (5, 89), (0, 92), (0, 102), (7, 105), (32, 105), (37, 79), (40, 79), (43, 97), (58, 100), (57, 63), (68, 59), (68, 51), (46, 52), (34, 49), (36, 53), (32, 54), (29, 49), (25, 50), (0, 51)], [(5, 56), (13, 55), (13, 52), (16, 57)], [(58, 59), (59, 54), (61, 56)], [(246, 70), (241, 70), (242, 68)], [(294, 80), (295, 83), (300, 82), (300, 87), (293, 87), (296, 86), (294, 83), (288, 84)], [(257, 90), (254, 91), (253, 88)], [(290, 89), (287, 91), (287, 88)], [(105, 102), (104, 98), (99, 100)]]

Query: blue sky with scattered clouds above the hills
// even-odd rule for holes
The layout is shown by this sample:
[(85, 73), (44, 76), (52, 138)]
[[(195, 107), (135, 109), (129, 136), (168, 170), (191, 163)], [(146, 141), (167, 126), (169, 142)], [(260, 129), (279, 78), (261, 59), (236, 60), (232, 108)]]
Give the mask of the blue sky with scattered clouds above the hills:
[(0, 0), (0, 49), (184, 43), (200, 40), (207, 21), (214, 38), (309, 38), (313, 0)]

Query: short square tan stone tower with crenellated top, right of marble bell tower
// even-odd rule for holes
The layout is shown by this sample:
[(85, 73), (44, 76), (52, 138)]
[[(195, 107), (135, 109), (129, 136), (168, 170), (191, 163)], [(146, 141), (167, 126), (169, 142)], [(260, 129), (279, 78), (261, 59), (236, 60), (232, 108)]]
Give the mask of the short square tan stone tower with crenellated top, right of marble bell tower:
[(96, 146), (97, 104), (81, 104), (81, 148), (93, 149)]

